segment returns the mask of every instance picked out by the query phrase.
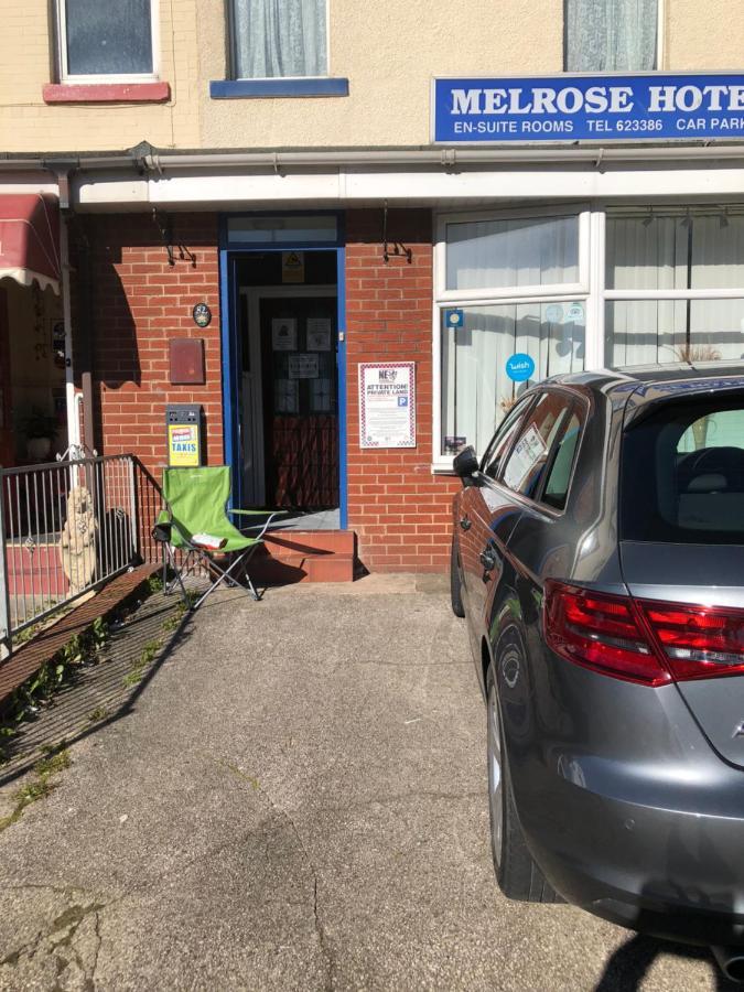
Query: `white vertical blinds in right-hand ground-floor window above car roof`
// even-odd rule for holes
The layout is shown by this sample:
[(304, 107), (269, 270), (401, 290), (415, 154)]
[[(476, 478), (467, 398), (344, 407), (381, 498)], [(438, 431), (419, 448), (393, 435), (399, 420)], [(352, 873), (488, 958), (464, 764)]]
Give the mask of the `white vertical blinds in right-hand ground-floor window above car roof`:
[[(612, 290), (742, 290), (744, 216), (723, 208), (607, 216)], [(744, 299), (608, 301), (612, 366), (744, 356)]]

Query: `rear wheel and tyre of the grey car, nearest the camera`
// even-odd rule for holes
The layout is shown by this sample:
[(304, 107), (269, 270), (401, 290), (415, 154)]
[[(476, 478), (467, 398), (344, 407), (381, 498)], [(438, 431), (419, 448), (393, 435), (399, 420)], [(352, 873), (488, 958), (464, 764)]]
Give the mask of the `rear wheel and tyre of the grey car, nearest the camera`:
[(524, 903), (560, 902), (532, 860), (519, 826), (504, 748), (498, 693), (493, 666), (486, 677), (488, 712), (488, 812), (490, 851), (499, 888), (509, 899)]

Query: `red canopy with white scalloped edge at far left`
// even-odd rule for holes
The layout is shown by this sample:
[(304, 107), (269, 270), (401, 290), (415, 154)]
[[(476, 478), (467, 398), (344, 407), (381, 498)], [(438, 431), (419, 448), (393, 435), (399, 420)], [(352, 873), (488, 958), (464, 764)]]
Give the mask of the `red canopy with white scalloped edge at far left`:
[(60, 213), (54, 196), (0, 194), (0, 279), (60, 292)]

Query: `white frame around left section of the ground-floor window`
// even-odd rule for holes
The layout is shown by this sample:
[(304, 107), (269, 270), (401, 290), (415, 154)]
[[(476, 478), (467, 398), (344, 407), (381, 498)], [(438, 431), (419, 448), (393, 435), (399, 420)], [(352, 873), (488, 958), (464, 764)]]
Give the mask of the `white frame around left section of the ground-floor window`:
[[(579, 281), (546, 285), (522, 285), (486, 289), (448, 290), (446, 289), (446, 228), (449, 224), (475, 220), (507, 220), (529, 217), (576, 217), (579, 220)], [(517, 303), (573, 303), (583, 302), (585, 317), (585, 358), (586, 368), (596, 367), (591, 362), (601, 362), (603, 348), (604, 321), (600, 324), (601, 333), (592, 334), (595, 328), (600, 309), (601, 285), (597, 277), (604, 282), (604, 271), (599, 271), (595, 258), (595, 238), (593, 237), (597, 220), (589, 203), (546, 204), (543, 206), (509, 207), (498, 211), (477, 211), (468, 213), (438, 213), (434, 217), (434, 303), (432, 308), (432, 463), (433, 473), (452, 473), (452, 456), (442, 454), (442, 311), (453, 306), (487, 306)], [(604, 303), (602, 303), (604, 306)], [(604, 315), (604, 310), (602, 310)], [(599, 337), (599, 341), (597, 341)], [(591, 346), (590, 346), (591, 339)]]

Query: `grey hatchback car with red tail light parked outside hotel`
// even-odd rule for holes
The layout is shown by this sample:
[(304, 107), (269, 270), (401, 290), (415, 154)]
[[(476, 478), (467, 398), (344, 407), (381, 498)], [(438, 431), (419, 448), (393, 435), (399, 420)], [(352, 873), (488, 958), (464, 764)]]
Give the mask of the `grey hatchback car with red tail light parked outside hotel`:
[(548, 380), (455, 471), (502, 889), (744, 978), (744, 367)]

